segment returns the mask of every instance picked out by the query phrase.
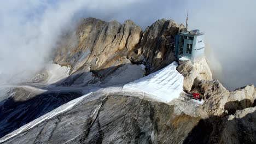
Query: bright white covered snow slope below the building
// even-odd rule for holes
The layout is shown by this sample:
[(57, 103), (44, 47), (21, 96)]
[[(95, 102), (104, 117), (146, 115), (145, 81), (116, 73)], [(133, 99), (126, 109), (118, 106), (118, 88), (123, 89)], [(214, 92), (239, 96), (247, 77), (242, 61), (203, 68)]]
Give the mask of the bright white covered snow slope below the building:
[(153, 99), (169, 103), (183, 91), (183, 76), (176, 70), (177, 62), (148, 76), (124, 85), (124, 91), (143, 92), (153, 95)]

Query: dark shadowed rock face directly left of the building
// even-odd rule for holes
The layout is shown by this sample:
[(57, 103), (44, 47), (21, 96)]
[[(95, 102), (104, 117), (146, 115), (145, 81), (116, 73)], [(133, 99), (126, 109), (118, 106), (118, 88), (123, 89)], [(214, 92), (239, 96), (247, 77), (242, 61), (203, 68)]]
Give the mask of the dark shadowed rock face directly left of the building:
[(138, 45), (138, 55), (144, 56), (144, 61), (150, 65), (150, 71), (159, 70), (176, 61), (171, 42), (178, 32), (179, 26), (173, 20), (161, 19), (146, 28)]

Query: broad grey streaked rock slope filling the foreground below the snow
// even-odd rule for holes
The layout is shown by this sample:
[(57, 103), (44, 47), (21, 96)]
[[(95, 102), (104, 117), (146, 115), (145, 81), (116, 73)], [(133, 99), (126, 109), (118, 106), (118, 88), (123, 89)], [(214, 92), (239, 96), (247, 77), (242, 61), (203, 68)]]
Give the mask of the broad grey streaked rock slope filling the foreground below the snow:
[(78, 102), (70, 101), (75, 103), (71, 109), (66, 108), (69, 103), (62, 105), (46, 116), (52, 117), (2, 137), (0, 143), (255, 142), (256, 107), (225, 117), (203, 117), (196, 114), (202, 111), (199, 106), (181, 100), (167, 105), (134, 96), (92, 93)]

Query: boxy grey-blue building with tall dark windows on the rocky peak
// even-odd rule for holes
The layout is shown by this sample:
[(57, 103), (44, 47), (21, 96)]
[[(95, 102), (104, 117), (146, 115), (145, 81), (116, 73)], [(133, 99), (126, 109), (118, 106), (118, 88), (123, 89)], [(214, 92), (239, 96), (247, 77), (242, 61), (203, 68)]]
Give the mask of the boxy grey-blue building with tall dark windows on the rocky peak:
[(182, 32), (175, 37), (175, 55), (177, 58), (186, 58), (194, 61), (205, 53), (205, 34), (198, 29)]

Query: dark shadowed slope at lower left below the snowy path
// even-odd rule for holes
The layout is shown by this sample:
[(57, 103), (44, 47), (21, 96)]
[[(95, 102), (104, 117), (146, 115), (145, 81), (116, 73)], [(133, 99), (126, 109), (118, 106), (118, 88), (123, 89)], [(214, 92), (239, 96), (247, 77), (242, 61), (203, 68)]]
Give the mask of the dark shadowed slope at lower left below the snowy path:
[(82, 95), (77, 91), (36, 93), (25, 88), (12, 89), (9, 94), (0, 107), (0, 137)]

